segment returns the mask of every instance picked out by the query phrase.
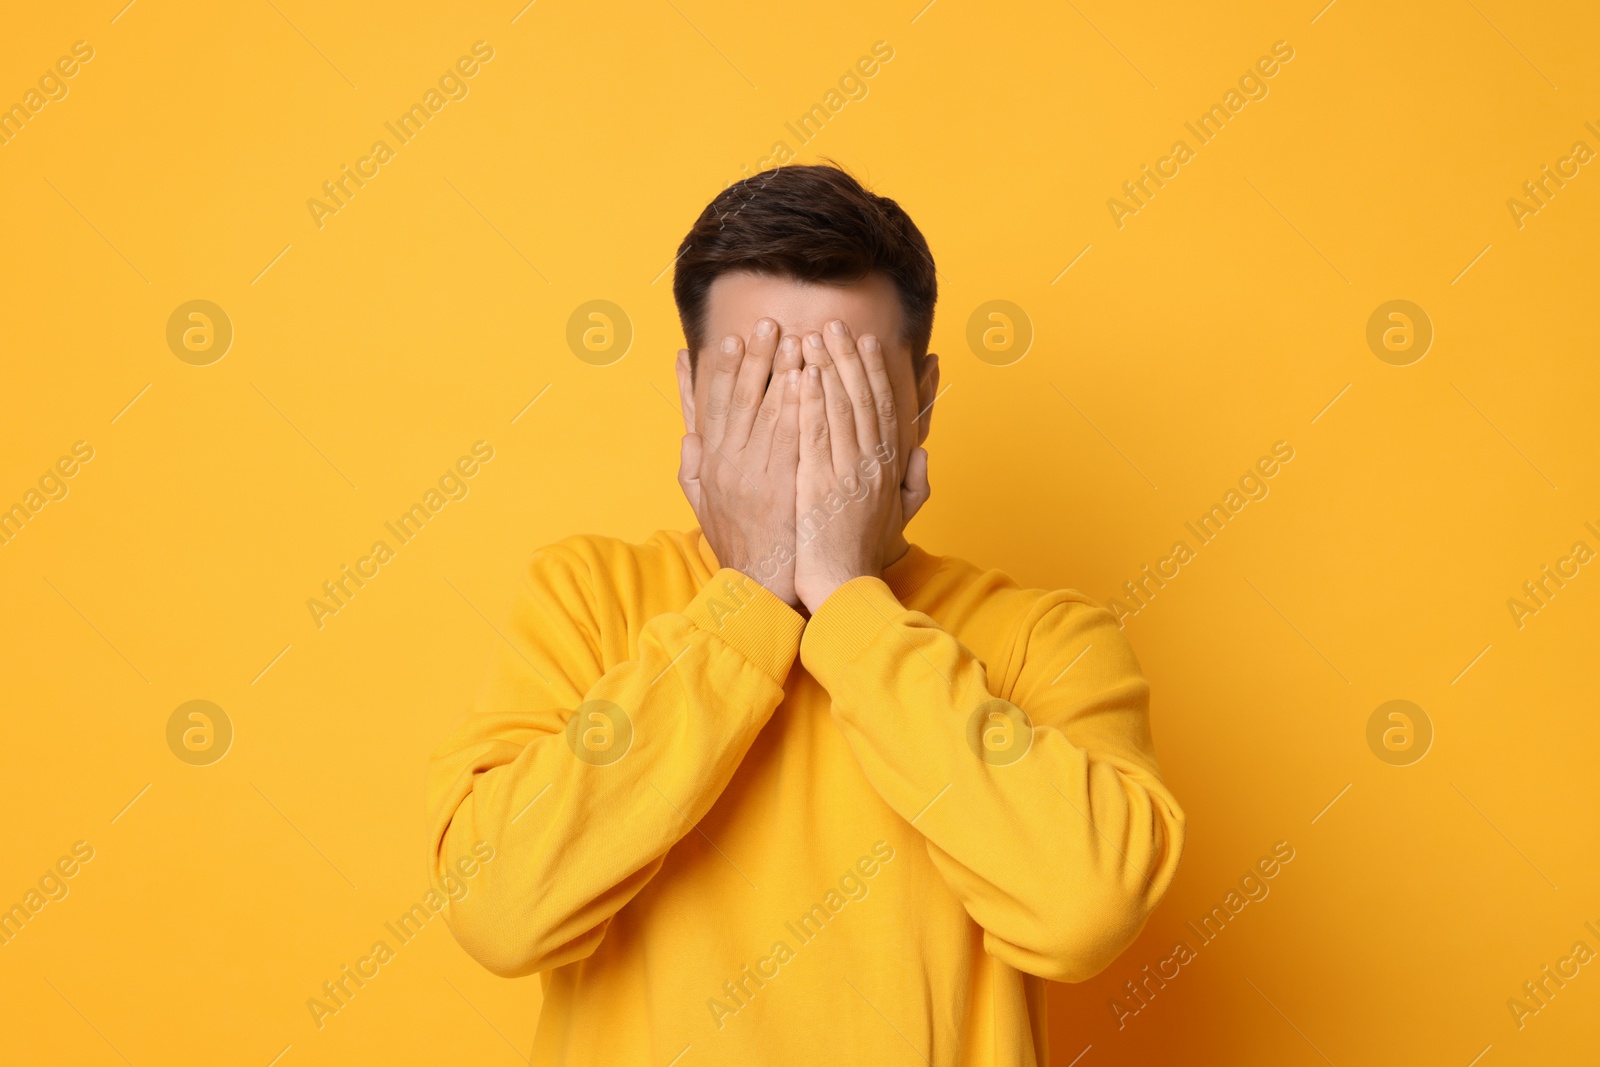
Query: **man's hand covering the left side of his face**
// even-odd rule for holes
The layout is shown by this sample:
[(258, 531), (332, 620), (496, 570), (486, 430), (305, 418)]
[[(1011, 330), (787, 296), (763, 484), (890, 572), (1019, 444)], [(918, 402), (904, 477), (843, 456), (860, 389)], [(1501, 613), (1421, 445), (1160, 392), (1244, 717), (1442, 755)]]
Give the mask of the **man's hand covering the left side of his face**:
[(706, 403), (694, 413), (698, 432), (683, 435), (678, 485), (717, 561), (797, 606), (800, 344), (779, 344), (778, 323), (762, 318), (749, 344), (725, 338), (707, 355)]

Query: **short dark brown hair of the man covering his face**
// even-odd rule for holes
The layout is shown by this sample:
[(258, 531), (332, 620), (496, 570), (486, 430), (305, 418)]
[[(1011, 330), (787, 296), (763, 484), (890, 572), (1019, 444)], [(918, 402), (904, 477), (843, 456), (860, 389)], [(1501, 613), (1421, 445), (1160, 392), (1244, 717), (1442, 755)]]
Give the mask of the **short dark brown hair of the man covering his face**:
[(922, 373), (939, 298), (928, 242), (898, 203), (867, 192), (842, 168), (763, 171), (728, 186), (701, 211), (678, 245), (672, 278), (691, 370), (706, 346), (710, 283), (734, 270), (821, 283), (888, 277), (906, 317), (901, 339)]

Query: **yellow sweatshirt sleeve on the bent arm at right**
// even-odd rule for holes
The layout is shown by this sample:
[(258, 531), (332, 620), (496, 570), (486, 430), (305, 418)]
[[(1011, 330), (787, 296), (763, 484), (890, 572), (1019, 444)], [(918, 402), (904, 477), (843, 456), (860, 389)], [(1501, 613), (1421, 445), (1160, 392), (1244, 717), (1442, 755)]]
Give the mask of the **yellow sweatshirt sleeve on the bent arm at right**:
[(1184, 814), (1109, 611), (1042, 597), (990, 678), (930, 616), (858, 577), (811, 617), (800, 659), (990, 955), (1082, 982), (1133, 942), (1178, 870)]

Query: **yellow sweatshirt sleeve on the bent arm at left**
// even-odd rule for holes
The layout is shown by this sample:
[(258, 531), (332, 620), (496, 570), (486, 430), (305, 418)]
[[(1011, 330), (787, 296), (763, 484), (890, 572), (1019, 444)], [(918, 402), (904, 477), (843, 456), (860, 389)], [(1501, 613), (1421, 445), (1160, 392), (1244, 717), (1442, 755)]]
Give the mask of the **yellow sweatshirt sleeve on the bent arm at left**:
[(429, 765), (432, 877), (493, 859), (446, 918), (496, 974), (594, 953), (778, 707), (805, 625), (722, 569), (603, 662), (619, 635), (595, 603), (574, 553), (539, 552), (477, 709)]

